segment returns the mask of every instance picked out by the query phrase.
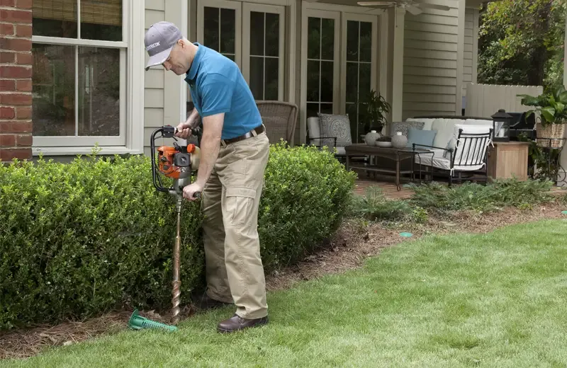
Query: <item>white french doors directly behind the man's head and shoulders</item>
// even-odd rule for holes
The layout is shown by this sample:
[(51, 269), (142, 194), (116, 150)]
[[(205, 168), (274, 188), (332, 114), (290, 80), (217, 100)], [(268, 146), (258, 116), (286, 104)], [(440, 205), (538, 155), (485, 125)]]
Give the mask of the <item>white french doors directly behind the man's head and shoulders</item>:
[(283, 100), (285, 7), (199, 1), (197, 42), (232, 59), (256, 100)]

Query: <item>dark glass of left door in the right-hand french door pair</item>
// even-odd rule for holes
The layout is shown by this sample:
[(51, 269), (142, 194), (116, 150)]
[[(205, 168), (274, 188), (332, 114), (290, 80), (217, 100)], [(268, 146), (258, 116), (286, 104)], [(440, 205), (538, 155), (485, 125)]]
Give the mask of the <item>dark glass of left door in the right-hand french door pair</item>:
[(309, 17), (307, 23), (307, 100), (318, 102), (309, 108), (332, 113), (335, 102), (335, 20)]

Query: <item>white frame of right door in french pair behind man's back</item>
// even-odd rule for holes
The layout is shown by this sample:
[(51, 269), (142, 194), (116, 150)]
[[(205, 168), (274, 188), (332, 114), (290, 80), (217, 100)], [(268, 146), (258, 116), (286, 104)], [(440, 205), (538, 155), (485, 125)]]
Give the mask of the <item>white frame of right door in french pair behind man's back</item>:
[[(284, 51), (285, 51), (285, 41), (286, 41), (286, 8), (283, 6), (275, 6), (275, 5), (264, 5), (264, 4), (250, 4), (250, 3), (243, 3), (242, 4), (242, 75), (248, 84), (250, 84), (250, 12), (257, 11), (259, 13), (274, 13), (279, 14), (279, 45), (278, 45), (278, 100), (283, 100), (283, 84), (285, 81), (283, 79), (285, 67), (285, 59), (284, 59)], [(266, 24), (264, 22), (264, 27)], [(266, 86), (266, 58), (273, 58), (273, 57), (266, 57), (264, 56), (264, 88)], [(265, 91), (264, 91), (265, 92)], [(265, 93), (264, 93), (265, 94)], [(263, 100), (259, 98), (258, 100)]]

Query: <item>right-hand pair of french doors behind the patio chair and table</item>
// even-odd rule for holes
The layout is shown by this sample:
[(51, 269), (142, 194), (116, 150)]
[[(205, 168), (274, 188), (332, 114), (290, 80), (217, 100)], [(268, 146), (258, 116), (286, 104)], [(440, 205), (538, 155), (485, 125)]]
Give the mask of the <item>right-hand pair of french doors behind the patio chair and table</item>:
[(302, 29), (301, 126), (318, 113), (348, 114), (359, 142), (364, 103), (376, 88), (378, 17), (307, 8)]

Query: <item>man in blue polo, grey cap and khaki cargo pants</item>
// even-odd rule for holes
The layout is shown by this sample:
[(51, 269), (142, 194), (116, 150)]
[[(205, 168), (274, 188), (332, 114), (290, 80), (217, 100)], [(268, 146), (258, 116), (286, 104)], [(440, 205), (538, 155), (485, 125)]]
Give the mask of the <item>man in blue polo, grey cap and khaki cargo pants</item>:
[(236, 305), (232, 318), (218, 324), (232, 332), (268, 322), (264, 268), (257, 231), (258, 207), (269, 140), (245, 79), (232, 60), (191, 43), (169, 22), (145, 34), (150, 61), (185, 76), (195, 105), (176, 135), (186, 139), (203, 120), (201, 159), (195, 183), (184, 197), (202, 192), (206, 256), (206, 306)]

